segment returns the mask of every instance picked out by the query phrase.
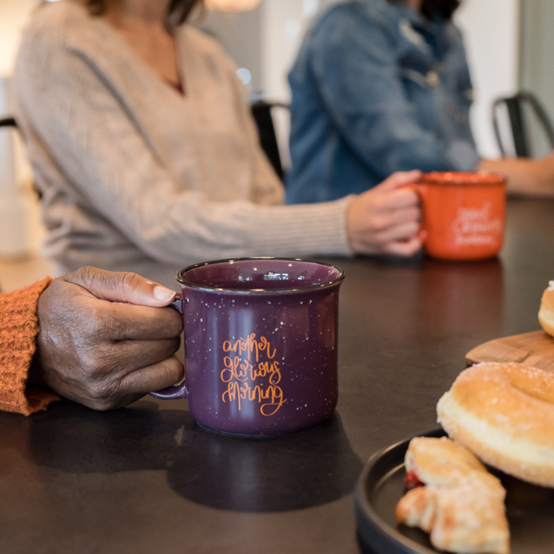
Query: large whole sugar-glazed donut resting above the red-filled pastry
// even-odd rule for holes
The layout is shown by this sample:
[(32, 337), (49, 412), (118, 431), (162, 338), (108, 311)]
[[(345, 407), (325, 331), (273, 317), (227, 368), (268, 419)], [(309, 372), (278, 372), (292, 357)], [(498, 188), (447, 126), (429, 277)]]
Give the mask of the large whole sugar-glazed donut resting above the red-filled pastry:
[(437, 404), (450, 437), (485, 463), (554, 487), (554, 375), (519, 363), (462, 371)]

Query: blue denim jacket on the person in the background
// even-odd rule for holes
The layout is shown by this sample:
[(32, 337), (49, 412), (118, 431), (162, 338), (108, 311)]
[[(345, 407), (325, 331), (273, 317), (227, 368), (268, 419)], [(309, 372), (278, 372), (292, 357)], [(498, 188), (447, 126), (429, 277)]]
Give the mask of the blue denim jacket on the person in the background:
[(471, 80), (461, 33), (402, 3), (321, 14), (289, 74), (287, 202), (360, 193), (394, 171), (469, 171)]

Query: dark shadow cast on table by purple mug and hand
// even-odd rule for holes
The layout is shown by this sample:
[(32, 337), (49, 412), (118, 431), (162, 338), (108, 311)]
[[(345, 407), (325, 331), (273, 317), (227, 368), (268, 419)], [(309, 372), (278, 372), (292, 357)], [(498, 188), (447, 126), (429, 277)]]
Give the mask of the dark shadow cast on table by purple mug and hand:
[(242, 512), (340, 499), (362, 469), (337, 413), (312, 429), (249, 439), (204, 430), (188, 411), (154, 402), (94, 412), (63, 401), (32, 417), (29, 445), (36, 463), (71, 473), (165, 470), (182, 497)]

